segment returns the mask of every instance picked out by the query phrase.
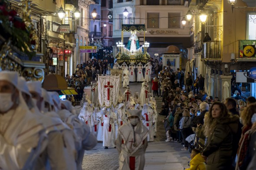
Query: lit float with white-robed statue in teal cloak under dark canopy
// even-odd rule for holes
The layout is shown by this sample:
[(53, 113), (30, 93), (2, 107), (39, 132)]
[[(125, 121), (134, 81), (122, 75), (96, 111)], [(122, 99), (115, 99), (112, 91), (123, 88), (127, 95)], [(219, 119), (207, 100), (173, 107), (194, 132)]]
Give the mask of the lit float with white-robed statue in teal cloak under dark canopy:
[[(124, 45), (124, 32), (131, 32), (128, 44)], [(139, 39), (136, 35), (137, 32), (144, 32), (143, 44), (140, 46)], [(117, 58), (118, 64), (125, 62), (126, 64), (139, 62), (146, 64), (150, 55), (147, 52), (149, 43), (145, 42), (145, 32), (146, 27), (144, 24), (123, 24), (121, 32), (121, 42), (117, 42), (118, 54), (115, 56)]]

